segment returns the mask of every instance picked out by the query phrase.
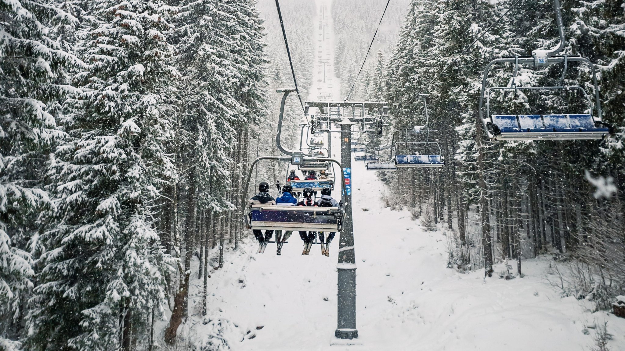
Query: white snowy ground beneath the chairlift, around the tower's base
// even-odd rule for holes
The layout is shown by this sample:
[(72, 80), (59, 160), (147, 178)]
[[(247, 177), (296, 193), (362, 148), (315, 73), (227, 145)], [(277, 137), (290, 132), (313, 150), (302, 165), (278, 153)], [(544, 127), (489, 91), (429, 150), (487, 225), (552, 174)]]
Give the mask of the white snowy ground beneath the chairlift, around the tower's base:
[[(297, 234), (281, 256), (275, 244), (255, 254), (252, 240), (228, 252), (229, 262), (209, 280), (209, 319), (192, 322), (189, 337), (224, 350), (227, 342), (231, 350), (553, 351), (591, 350), (594, 331), (586, 326), (595, 321), (608, 319), (612, 334), (625, 330), (623, 319), (559, 297), (544, 279), (546, 260), (523, 262), (526, 276), (512, 280), (447, 269), (442, 230), (426, 232), (409, 212), (384, 208), (384, 185), (361, 162), (354, 163), (352, 181), (361, 345), (331, 345), (337, 240), (329, 258), (319, 245), (302, 256)], [(200, 288), (193, 280), (191, 294)], [(200, 310), (197, 298), (189, 309)], [(611, 345), (625, 349), (622, 333)]]

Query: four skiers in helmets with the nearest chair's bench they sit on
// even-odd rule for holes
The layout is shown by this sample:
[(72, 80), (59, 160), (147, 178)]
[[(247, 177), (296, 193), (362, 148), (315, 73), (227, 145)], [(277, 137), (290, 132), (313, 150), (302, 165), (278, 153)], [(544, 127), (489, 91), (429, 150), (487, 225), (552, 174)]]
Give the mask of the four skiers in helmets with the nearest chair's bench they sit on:
[[(320, 244), (321, 254), (329, 257), (329, 245), (336, 232), (340, 230), (342, 217), (336, 215), (337, 211), (342, 213), (342, 203), (332, 199), (332, 189), (324, 187), (321, 189), (321, 197), (316, 199), (316, 192), (312, 188), (306, 188), (302, 190), (301, 198), (297, 199), (293, 195), (291, 185), (286, 184), (280, 189), (279, 182), (276, 182), (276, 186), (278, 191), (282, 190), (281, 195), (276, 199), (269, 195), (269, 184), (261, 182), (258, 186), (259, 193), (249, 200), (252, 232), (259, 243), (256, 253), (264, 253), (267, 244), (275, 242), (277, 244), (276, 255), (281, 255), (282, 245), (287, 242), (294, 229), (299, 229), (299, 236), (304, 242), (302, 255), (310, 253), (312, 244)], [(285, 209), (284, 207), (296, 208)], [(297, 207), (301, 207), (301, 210)], [(324, 209), (313, 210), (310, 207), (323, 207)], [(278, 227), (276, 223), (279, 223)], [(334, 231), (327, 231), (326, 236), (325, 230), (306, 229)], [(274, 232), (276, 232), (276, 239), (271, 241)], [(318, 241), (316, 241), (317, 237)]]

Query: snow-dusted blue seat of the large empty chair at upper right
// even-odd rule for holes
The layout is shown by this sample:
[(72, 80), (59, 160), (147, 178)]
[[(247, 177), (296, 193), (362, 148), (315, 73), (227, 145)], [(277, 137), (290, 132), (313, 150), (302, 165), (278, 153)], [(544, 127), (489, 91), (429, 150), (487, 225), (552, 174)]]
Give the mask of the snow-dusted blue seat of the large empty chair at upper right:
[(596, 127), (590, 114), (533, 114), (491, 116), (496, 140), (602, 139), (607, 127)]

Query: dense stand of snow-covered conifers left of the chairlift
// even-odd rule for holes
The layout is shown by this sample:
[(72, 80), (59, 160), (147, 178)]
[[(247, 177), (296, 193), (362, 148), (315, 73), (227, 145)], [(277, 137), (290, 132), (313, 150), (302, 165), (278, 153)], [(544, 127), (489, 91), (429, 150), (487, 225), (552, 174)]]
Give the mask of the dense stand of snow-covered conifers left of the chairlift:
[[(242, 237), (252, 0), (0, 2), (0, 349), (151, 350)], [(172, 299), (173, 298), (173, 299)], [(161, 340), (162, 341), (162, 340)]]

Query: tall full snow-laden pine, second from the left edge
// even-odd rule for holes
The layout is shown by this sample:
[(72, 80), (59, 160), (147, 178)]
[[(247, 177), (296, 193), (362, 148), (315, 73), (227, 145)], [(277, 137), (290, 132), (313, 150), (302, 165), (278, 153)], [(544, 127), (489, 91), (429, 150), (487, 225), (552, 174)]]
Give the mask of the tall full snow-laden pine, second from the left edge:
[(146, 342), (146, 315), (162, 314), (168, 256), (149, 204), (158, 196), (153, 165), (167, 164), (164, 93), (174, 69), (159, 1), (89, 1), (77, 51), (88, 70), (68, 101), (51, 177), (58, 222), (27, 319), (32, 350), (129, 350)]

